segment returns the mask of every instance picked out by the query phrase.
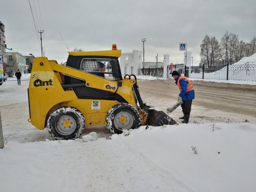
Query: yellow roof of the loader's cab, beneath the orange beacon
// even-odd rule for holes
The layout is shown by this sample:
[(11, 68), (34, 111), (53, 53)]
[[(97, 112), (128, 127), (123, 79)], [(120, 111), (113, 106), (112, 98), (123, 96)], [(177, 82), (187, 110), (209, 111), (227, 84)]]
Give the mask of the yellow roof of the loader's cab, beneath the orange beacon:
[(87, 52), (68, 52), (73, 56), (109, 56), (120, 57), (122, 50), (104, 50), (104, 51), (87, 51)]

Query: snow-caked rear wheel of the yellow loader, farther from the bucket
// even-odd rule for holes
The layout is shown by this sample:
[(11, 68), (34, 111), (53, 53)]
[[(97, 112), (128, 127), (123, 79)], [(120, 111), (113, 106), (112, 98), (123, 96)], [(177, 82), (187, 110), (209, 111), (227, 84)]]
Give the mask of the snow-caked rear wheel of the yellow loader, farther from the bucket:
[(60, 107), (48, 117), (47, 128), (54, 139), (75, 139), (84, 131), (85, 119), (74, 107)]

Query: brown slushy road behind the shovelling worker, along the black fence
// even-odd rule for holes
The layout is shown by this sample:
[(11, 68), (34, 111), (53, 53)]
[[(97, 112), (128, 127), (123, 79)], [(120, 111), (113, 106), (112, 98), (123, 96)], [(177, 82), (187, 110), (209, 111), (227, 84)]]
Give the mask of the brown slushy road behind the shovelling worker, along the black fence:
[[(200, 84), (200, 83), (199, 83)], [(162, 101), (177, 99), (179, 90), (176, 84), (159, 84), (138, 80), (140, 94), (143, 97), (161, 98)], [(200, 105), (207, 108), (219, 109), (222, 111), (247, 114), (256, 117), (256, 91), (241, 90), (225, 87), (214, 87), (214, 85), (194, 85), (196, 99), (193, 105)], [(168, 106), (167, 106), (168, 107)]]

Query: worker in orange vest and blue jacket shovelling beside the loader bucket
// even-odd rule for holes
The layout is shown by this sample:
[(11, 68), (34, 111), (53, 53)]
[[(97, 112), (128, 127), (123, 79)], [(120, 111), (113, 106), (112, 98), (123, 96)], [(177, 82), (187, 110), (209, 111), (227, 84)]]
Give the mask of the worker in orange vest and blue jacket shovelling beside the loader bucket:
[(181, 108), (184, 116), (180, 117), (180, 119), (184, 119), (182, 123), (188, 123), (192, 100), (195, 98), (193, 85), (187, 77), (179, 74), (178, 71), (173, 71), (172, 77), (175, 79), (175, 83), (180, 89), (178, 101), (183, 101)]

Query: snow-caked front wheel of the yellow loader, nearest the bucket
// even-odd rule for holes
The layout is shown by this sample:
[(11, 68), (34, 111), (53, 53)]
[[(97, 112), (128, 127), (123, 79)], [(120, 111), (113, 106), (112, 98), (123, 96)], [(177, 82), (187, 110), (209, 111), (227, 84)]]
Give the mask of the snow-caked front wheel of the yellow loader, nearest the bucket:
[(137, 129), (140, 119), (136, 108), (128, 103), (117, 103), (108, 111), (106, 126), (111, 133), (123, 133), (124, 129)]

